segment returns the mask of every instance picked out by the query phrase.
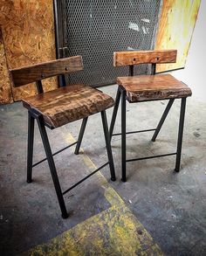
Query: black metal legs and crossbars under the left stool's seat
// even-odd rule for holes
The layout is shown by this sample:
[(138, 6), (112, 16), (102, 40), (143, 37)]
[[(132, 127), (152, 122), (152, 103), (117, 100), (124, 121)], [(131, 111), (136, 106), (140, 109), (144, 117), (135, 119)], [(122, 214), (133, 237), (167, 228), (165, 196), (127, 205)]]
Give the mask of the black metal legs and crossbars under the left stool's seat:
[[(61, 190), (61, 186), (60, 186), (60, 183), (58, 181), (58, 174), (57, 174), (56, 166), (55, 166), (55, 163), (54, 163), (54, 160), (53, 160), (53, 156), (57, 155), (58, 153), (62, 152), (65, 149), (68, 149), (68, 148), (72, 147), (75, 144), (77, 144), (76, 149), (75, 149), (75, 154), (79, 154), (79, 148), (80, 148), (82, 138), (83, 138), (83, 135), (84, 135), (84, 132), (85, 132), (87, 119), (88, 118), (86, 117), (82, 121), (78, 141), (74, 142), (74, 143), (68, 145), (67, 147), (65, 147), (64, 149), (60, 149), (56, 153), (52, 154), (52, 149), (51, 149), (50, 142), (49, 142), (49, 139), (48, 139), (48, 136), (47, 136), (47, 133), (46, 133), (45, 121), (44, 121), (43, 115), (39, 114), (38, 111), (36, 111), (34, 109), (30, 109), (28, 111), (27, 183), (32, 182), (32, 168), (37, 166), (39, 163), (42, 163), (45, 160), (47, 160), (48, 164), (49, 164), (49, 167), (50, 167), (50, 170), (51, 170), (52, 181), (53, 181), (53, 184), (54, 184), (54, 187), (55, 187), (55, 190), (56, 190), (56, 194), (57, 194), (57, 197), (58, 197), (58, 204), (59, 204), (59, 207), (60, 207), (60, 210), (61, 210), (61, 213), (62, 213), (62, 218), (68, 218), (68, 213), (66, 211), (65, 200), (64, 200), (63, 196), (67, 192), (69, 192), (70, 190), (75, 188), (77, 185), (79, 185), (79, 183), (82, 183), (88, 177), (93, 176), (93, 174), (95, 174), (97, 171), (104, 168), (107, 164), (109, 164), (109, 167), (110, 167), (111, 180), (112, 181), (116, 180), (114, 166), (113, 166), (112, 149), (111, 149), (111, 144), (110, 144), (110, 139), (109, 139), (109, 132), (108, 132), (107, 121), (106, 121), (106, 111), (104, 110), (104, 111), (101, 112), (101, 120), (102, 120), (104, 135), (105, 135), (106, 152), (107, 152), (107, 156), (108, 156), (108, 162), (101, 165), (97, 170), (94, 170), (88, 176), (85, 176), (79, 182), (73, 184), (72, 187), (70, 187), (69, 189), (67, 189), (65, 191)], [(46, 158), (39, 161), (38, 163), (32, 164), (33, 141), (34, 141), (34, 122), (35, 122), (35, 120), (38, 122), (38, 128), (39, 128), (39, 132), (40, 132), (42, 142), (43, 142), (43, 145), (44, 145), (44, 148), (45, 148)]]

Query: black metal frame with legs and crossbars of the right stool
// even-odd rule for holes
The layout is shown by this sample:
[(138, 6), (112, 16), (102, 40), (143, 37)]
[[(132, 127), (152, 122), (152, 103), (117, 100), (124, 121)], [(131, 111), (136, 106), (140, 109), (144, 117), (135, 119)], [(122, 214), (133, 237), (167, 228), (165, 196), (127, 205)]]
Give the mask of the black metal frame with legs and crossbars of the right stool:
[[(156, 71), (156, 65), (155, 64), (152, 65), (151, 71), (152, 71), (152, 74), (155, 74), (155, 71)], [(129, 76), (133, 76), (133, 75), (134, 75), (134, 66), (129, 66)], [(114, 128), (114, 124), (115, 124), (115, 121), (116, 121), (118, 108), (119, 108), (119, 105), (120, 105), (120, 99), (121, 99), (121, 133), (113, 134), (113, 128)], [(177, 98), (175, 98), (175, 99), (177, 99)], [(161, 130), (161, 127), (162, 127), (165, 119), (167, 118), (168, 112), (169, 112), (170, 108), (172, 107), (175, 99), (168, 100), (168, 105), (165, 108), (165, 110), (164, 110), (164, 112), (161, 116), (161, 120), (159, 121), (156, 128), (127, 132), (127, 130), (126, 130), (127, 91), (122, 86), (118, 86), (118, 90), (117, 90), (117, 94), (116, 94), (116, 100), (115, 100), (115, 104), (114, 104), (114, 107), (113, 107), (113, 116), (112, 116), (112, 120), (111, 120), (111, 124), (110, 124), (109, 135), (110, 135), (110, 141), (112, 139), (112, 136), (121, 135), (121, 180), (123, 182), (127, 181), (127, 175), (126, 175), (126, 172), (127, 172), (126, 163), (127, 162), (145, 160), (145, 159), (162, 157), (162, 156), (174, 156), (175, 155), (176, 156), (175, 171), (178, 172), (180, 170), (181, 153), (182, 153), (182, 135), (183, 135), (184, 116), (185, 116), (185, 107), (186, 107), (186, 99), (187, 98), (182, 98), (182, 101), (181, 101), (179, 131), (178, 131), (178, 139), (177, 139), (177, 149), (176, 149), (175, 153), (168, 153), (168, 154), (158, 155), (158, 156), (146, 156), (146, 157), (133, 158), (133, 159), (127, 159), (127, 156), (126, 156), (126, 151), (127, 151), (126, 135), (127, 134), (135, 134), (135, 133), (141, 133), (141, 132), (154, 131), (154, 135), (152, 137), (152, 142), (155, 142), (156, 137), (159, 134), (159, 132)], [(145, 100), (145, 101), (152, 101), (152, 100)], [(137, 103), (137, 102), (135, 102), (135, 103)]]

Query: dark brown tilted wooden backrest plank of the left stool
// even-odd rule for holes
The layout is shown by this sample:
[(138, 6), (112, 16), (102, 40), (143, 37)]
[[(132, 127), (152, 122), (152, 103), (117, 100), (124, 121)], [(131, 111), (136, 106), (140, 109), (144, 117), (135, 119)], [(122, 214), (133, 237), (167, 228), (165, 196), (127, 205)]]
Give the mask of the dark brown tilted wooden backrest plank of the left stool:
[(24, 66), (10, 70), (15, 87), (44, 80), (52, 76), (83, 70), (81, 56), (55, 59), (32, 66)]

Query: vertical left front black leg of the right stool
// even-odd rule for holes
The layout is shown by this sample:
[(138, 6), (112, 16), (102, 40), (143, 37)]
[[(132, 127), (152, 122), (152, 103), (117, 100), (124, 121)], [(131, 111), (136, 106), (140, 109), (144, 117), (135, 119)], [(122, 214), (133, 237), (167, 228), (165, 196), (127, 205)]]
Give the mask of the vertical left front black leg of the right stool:
[(126, 182), (126, 91), (121, 93), (121, 180)]

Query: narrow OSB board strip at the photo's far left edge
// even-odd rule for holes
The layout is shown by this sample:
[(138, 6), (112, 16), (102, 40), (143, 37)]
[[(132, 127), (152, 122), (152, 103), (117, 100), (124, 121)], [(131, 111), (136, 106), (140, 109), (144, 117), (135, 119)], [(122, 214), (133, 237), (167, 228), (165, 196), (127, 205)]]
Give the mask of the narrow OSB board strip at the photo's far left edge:
[(10, 103), (12, 101), (10, 78), (6, 64), (2, 31), (0, 27), (0, 104)]

